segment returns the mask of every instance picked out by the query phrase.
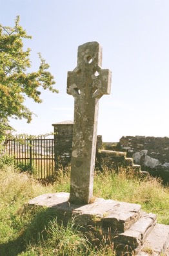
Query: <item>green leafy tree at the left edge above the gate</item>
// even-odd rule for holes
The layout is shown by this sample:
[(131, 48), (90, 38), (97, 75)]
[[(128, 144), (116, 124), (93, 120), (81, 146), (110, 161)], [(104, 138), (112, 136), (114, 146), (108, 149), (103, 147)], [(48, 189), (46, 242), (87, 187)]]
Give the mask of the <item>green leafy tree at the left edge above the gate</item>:
[[(49, 65), (39, 53), (40, 65), (36, 72), (28, 72), (31, 67), (30, 49), (23, 49), (23, 39), (31, 39), (19, 25), (19, 16), (14, 27), (0, 24), (0, 135), (4, 135), (9, 126), (9, 117), (32, 120), (32, 112), (25, 106), (25, 97), (41, 103), (41, 91), (54, 89), (54, 76), (48, 71)], [(1, 140), (1, 138), (0, 138)]]

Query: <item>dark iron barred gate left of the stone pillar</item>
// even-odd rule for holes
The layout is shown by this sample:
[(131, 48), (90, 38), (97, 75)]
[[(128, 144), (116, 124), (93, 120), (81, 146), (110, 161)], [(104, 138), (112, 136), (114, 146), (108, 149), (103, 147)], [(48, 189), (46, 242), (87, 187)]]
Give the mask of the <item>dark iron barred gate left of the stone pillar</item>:
[(54, 139), (46, 137), (6, 138), (6, 153), (14, 156), (15, 163), (22, 170), (32, 171), (38, 179), (54, 174)]

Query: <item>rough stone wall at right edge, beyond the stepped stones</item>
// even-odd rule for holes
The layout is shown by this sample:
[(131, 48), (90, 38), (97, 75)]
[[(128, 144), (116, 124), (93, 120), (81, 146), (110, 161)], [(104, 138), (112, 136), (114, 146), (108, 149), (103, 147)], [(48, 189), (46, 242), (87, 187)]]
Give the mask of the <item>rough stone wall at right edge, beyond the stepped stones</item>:
[(148, 170), (154, 176), (161, 176), (169, 182), (169, 138), (127, 136), (119, 141), (119, 149), (133, 157), (141, 170)]

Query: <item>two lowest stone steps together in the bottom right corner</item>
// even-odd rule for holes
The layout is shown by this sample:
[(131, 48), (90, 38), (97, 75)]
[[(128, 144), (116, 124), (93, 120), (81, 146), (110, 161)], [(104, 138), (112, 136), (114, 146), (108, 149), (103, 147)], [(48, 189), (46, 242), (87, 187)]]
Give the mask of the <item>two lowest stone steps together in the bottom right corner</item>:
[(156, 223), (156, 216), (143, 213), (141, 218), (114, 238), (117, 256), (169, 255), (169, 226)]

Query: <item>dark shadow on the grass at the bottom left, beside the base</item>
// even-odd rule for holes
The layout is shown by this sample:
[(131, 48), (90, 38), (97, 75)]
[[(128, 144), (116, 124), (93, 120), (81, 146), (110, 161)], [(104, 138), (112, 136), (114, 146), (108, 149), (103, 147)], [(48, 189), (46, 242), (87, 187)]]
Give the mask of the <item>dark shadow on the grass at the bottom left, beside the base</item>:
[(48, 224), (57, 217), (56, 209), (34, 207), (25, 210), (30, 215), (30, 222), (23, 227), (15, 240), (0, 244), (1, 256), (17, 256), (26, 251), (28, 244), (35, 245), (40, 240), (46, 240)]

